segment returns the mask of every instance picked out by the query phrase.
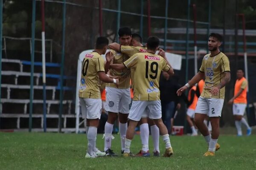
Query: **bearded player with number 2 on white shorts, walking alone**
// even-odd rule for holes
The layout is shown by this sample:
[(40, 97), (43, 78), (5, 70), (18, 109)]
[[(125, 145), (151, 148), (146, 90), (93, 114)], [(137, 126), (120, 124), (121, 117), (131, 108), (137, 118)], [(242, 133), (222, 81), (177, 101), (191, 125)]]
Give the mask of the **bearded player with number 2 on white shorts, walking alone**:
[[(177, 94), (181, 95), (183, 91), (205, 77), (204, 90), (195, 108), (195, 125), (209, 145), (204, 156), (214, 156), (215, 150), (220, 147), (217, 143), (219, 120), (224, 102), (225, 85), (230, 81), (229, 59), (219, 50), (221, 40), (220, 34), (212, 33), (209, 35), (208, 48), (210, 54), (204, 56), (199, 72), (177, 91)], [(211, 121), (212, 134), (209, 133), (207, 126), (204, 124), (205, 115), (208, 115)]]

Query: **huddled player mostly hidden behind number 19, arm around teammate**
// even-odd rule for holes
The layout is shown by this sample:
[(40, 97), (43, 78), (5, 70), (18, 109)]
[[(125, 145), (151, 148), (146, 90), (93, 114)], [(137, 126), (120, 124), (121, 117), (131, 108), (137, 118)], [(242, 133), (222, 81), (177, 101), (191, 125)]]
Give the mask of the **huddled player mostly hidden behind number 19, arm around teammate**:
[[(119, 51), (121, 53), (127, 54), (128, 57), (132, 57), (136, 53), (146, 52), (146, 47), (142, 45), (142, 37), (140, 34), (133, 33), (131, 34), (131, 45), (120, 45), (116, 42), (109, 44), (109, 48)], [(131, 80), (132, 80), (132, 89), (134, 84), (134, 72), (136, 68), (131, 68)], [(159, 128), (154, 124), (154, 121), (147, 117), (147, 113), (143, 113), (143, 116), (139, 122), (140, 125), (140, 139), (142, 143), (142, 149), (136, 156), (150, 156), (148, 148), (148, 138), (149, 138), (149, 128), (151, 128), (151, 135), (154, 143), (154, 156), (160, 156), (159, 150)]]

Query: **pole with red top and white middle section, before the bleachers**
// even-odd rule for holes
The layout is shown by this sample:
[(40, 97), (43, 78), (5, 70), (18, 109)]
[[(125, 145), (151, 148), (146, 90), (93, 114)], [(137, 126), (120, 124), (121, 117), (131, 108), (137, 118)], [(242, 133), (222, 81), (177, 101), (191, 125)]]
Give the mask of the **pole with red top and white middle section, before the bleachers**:
[(43, 112), (44, 112), (44, 132), (46, 132), (46, 78), (45, 78), (45, 22), (44, 22), (44, 0), (41, 0), (42, 17), (42, 70), (43, 70)]

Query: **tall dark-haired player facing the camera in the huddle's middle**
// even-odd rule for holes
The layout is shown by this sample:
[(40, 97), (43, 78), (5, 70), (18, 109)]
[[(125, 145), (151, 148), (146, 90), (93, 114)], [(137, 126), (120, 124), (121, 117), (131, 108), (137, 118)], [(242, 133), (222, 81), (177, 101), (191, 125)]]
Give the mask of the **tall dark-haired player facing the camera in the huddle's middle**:
[[(119, 41), (121, 45), (130, 45), (131, 43), (131, 29), (120, 28), (118, 31)], [(111, 50), (114, 54), (113, 63), (123, 63), (129, 57), (125, 54)], [(112, 59), (106, 57), (105, 71), (108, 72), (109, 65)], [(104, 151), (108, 156), (117, 156), (116, 153), (111, 150), (111, 140), (113, 139), (112, 131), (113, 125), (118, 118), (119, 113), (119, 133), (121, 138), (121, 153), (125, 150), (125, 133), (127, 130), (127, 119), (129, 114), (129, 106), (131, 103), (130, 92), (130, 70), (124, 68), (120, 71), (110, 69), (110, 76), (120, 77), (119, 85), (116, 86), (113, 83), (106, 84), (106, 108), (108, 111), (108, 121), (105, 124), (105, 146)]]

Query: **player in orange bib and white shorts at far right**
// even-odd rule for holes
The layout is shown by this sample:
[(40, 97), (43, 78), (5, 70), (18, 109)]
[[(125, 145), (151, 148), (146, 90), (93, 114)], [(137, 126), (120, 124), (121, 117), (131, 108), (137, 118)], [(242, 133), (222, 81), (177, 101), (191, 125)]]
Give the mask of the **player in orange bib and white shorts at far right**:
[(244, 77), (244, 71), (239, 68), (236, 71), (236, 84), (234, 96), (229, 100), (229, 104), (233, 103), (233, 115), (235, 118), (235, 124), (237, 129), (237, 136), (242, 136), (241, 124), (243, 123), (247, 127), (247, 136), (250, 136), (252, 129), (244, 119), (244, 111), (247, 105), (247, 80)]

